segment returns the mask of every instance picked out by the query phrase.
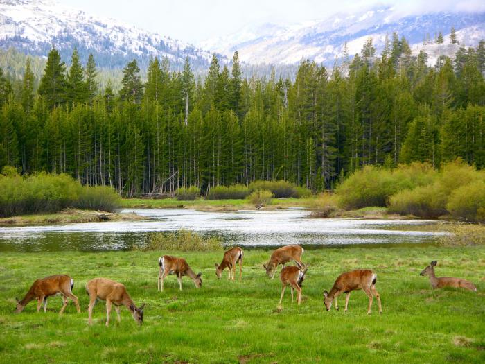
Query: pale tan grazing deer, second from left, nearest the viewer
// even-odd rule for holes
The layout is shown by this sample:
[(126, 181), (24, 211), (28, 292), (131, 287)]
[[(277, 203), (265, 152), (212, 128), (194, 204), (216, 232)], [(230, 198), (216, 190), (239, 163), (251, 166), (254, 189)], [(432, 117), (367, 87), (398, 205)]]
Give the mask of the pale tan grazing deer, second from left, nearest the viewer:
[(118, 315), (118, 322), (121, 322), (120, 306), (123, 304), (132, 313), (133, 320), (138, 322), (138, 324), (143, 324), (143, 308), (145, 304), (136, 307), (123, 284), (107, 278), (94, 278), (87, 282), (86, 291), (89, 295), (88, 315), (90, 325), (93, 324), (93, 307), (98, 299), (106, 301), (106, 326), (109, 326), (109, 314), (111, 313), (112, 304), (114, 304), (116, 315)]

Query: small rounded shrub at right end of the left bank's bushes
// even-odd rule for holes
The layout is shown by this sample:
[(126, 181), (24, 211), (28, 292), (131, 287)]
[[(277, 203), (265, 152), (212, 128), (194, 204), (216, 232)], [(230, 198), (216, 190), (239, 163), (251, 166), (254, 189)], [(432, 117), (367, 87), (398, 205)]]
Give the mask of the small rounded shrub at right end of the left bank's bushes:
[(112, 187), (83, 187), (78, 200), (73, 206), (78, 209), (113, 212), (119, 209), (121, 200)]

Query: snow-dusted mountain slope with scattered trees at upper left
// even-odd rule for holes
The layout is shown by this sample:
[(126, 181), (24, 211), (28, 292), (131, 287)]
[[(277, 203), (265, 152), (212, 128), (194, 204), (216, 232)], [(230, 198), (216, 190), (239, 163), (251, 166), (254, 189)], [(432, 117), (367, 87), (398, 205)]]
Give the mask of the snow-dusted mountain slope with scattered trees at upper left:
[[(98, 67), (117, 69), (136, 58), (142, 69), (150, 57), (166, 57), (179, 69), (188, 57), (195, 70), (209, 67), (212, 54), (196, 46), (143, 31), (113, 19), (94, 17), (51, 0), (2, 0), (0, 48), (14, 47), (46, 56), (52, 46), (70, 60), (76, 46), (86, 62), (90, 52)], [(222, 57), (224, 60), (224, 58)]]

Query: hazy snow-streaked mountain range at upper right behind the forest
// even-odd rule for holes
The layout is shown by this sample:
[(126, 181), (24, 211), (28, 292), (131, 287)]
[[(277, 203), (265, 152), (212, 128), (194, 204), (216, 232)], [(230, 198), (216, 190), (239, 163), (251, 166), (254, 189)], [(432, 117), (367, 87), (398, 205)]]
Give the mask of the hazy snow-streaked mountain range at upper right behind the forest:
[[(336, 58), (344, 56), (344, 44), (349, 55), (360, 53), (368, 37), (378, 52), (385, 44), (386, 35), (391, 38), (394, 31), (404, 35), (414, 52), (420, 49), (441, 54), (453, 53), (458, 48), (434, 46), (431, 39), (441, 31), (448, 40), (450, 28), (454, 26), (458, 40), (466, 46), (476, 46), (485, 38), (485, 13), (444, 13), (423, 15), (401, 15), (389, 6), (373, 8), (352, 14), (337, 14), (318, 21), (280, 26), (263, 24), (247, 26), (233, 35), (201, 42), (204, 49), (231, 55), (236, 49), (240, 60), (251, 64), (274, 63), (295, 64), (303, 58), (332, 66)], [(454, 53), (453, 53), (454, 54)], [(435, 58), (430, 58), (430, 62)]]

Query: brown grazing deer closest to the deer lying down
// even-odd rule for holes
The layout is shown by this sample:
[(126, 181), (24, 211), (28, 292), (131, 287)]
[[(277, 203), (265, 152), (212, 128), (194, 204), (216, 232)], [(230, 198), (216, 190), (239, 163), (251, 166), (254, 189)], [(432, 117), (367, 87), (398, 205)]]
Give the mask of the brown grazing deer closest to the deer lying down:
[(345, 296), (345, 312), (347, 311), (347, 306), (349, 306), (349, 297), (351, 291), (362, 289), (364, 293), (369, 297), (369, 306), (367, 307), (367, 314), (370, 315), (372, 308), (373, 296), (377, 298), (377, 303), (379, 305), (379, 313), (382, 313), (382, 306), (380, 304), (380, 295), (376, 290), (376, 280), (377, 275), (372, 270), (368, 269), (357, 269), (351, 272), (342, 273), (337, 277), (335, 283), (333, 284), (330, 293), (324, 291), (324, 304), (327, 311), (332, 307), (332, 301), (335, 300), (335, 309), (339, 309), (337, 305), (337, 296), (342, 292), (346, 293)]

